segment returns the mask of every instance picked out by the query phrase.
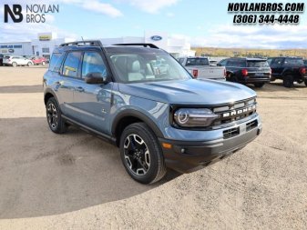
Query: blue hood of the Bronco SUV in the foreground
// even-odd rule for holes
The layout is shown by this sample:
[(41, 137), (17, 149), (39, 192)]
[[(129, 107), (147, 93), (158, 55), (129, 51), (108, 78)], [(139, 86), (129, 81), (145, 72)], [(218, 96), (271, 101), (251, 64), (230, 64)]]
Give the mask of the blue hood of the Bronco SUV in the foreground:
[(178, 105), (218, 105), (256, 96), (250, 88), (215, 80), (177, 80), (119, 84), (119, 91), (149, 100)]

